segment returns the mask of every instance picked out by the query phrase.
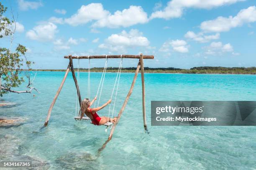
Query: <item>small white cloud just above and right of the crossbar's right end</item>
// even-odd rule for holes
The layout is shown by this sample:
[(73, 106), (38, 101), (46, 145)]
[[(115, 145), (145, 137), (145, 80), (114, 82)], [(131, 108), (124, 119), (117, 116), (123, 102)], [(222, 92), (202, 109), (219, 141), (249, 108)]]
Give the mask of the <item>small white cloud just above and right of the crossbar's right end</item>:
[(173, 49), (176, 52), (185, 53), (188, 52), (187, 42), (184, 40), (168, 40), (164, 42), (159, 51), (169, 52), (170, 49)]

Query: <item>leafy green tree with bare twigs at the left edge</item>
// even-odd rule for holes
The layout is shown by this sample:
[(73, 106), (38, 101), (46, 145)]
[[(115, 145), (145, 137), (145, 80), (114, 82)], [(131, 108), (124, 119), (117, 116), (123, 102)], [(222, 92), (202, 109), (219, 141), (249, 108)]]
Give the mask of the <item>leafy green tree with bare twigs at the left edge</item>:
[[(31, 93), (33, 89), (36, 90), (31, 83), (29, 74), (33, 62), (27, 60), (27, 49), (21, 44), (18, 44), (12, 52), (13, 35), (15, 33), (16, 23), (14, 17), (13, 20), (10, 20), (8, 17), (4, 16), (6, 10), (7, 7), (4, 7), (0, 2), (0, 38), (6, 36), (11, 37), (10, 48), (0, 47), (0, 96), (3, 96), (3, 94), (8, 92)], [(25, 82), (24, 77), (20, 74), (24, 71), (23, 67), (25, 66), (27, 67), (25, 77), (28, 78), (27, 88), (29, 88), (29, 90), (15, 91), (13, 88), (19, 87)]]

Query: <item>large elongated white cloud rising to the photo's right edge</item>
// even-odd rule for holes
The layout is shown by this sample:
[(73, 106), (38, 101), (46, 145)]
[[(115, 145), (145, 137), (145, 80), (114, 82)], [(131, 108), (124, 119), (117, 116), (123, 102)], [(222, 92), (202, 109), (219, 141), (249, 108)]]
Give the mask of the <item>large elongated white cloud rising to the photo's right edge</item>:
[(215, 20), (208, 20), (201, 23), (200, 28), (206, 32), (225, 32), (231, 28), (242, 26), (245, 23), (253, 23), (256, 21), (256, 7), (251, 6), (247, 9), (240, 10), (235, 16), (218, 17)]

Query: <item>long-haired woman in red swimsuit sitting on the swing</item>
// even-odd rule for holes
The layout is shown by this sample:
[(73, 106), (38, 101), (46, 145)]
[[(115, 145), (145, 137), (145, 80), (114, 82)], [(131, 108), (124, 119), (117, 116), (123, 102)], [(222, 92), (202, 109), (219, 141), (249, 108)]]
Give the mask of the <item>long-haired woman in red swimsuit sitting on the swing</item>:
[(97, 100), (97, 97), (95, 97), (92, 102), (90, 102), (89, 99), (85, 98), (82, 101), (82, 105), (81, 105), (81, 109), (79, 111), (79, 115), (80, 115), (80, 119), (82, 119), (82, 117), (85, 115), (87, 115), (91, 120), (92, 120), (92, 124), (94, 125), (104, 125), (106, 122), (115, 122), (116, 117), (111, 119), (109, 117), (100, 117), (97, 115), (97, 111), (103, 109), (104, 107), (106, 107), (108, 104), (110, 104), (111, 100), (108, 100), (108, 102), (106, 102), (104, 105), (100, 106), (100, 107), (96, 107), (96, 108), (90, 108), (91, 105), (93, 104), (93, 102), (95, 102), (95, 100)]

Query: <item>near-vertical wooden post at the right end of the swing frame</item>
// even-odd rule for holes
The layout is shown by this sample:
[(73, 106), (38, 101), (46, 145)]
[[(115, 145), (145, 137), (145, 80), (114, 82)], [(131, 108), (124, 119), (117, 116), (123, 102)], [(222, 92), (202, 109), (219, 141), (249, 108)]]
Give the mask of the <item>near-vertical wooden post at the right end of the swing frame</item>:
[(143, 124), (144, 129), (147, 131), (146, 122), (146, 108), (145, 108), (145, 81), (144, 81), (144, 65), (143, 65), (143, 54), (141, 54), (141, 84), (142, 84), (142, 113), (143, 113)]

